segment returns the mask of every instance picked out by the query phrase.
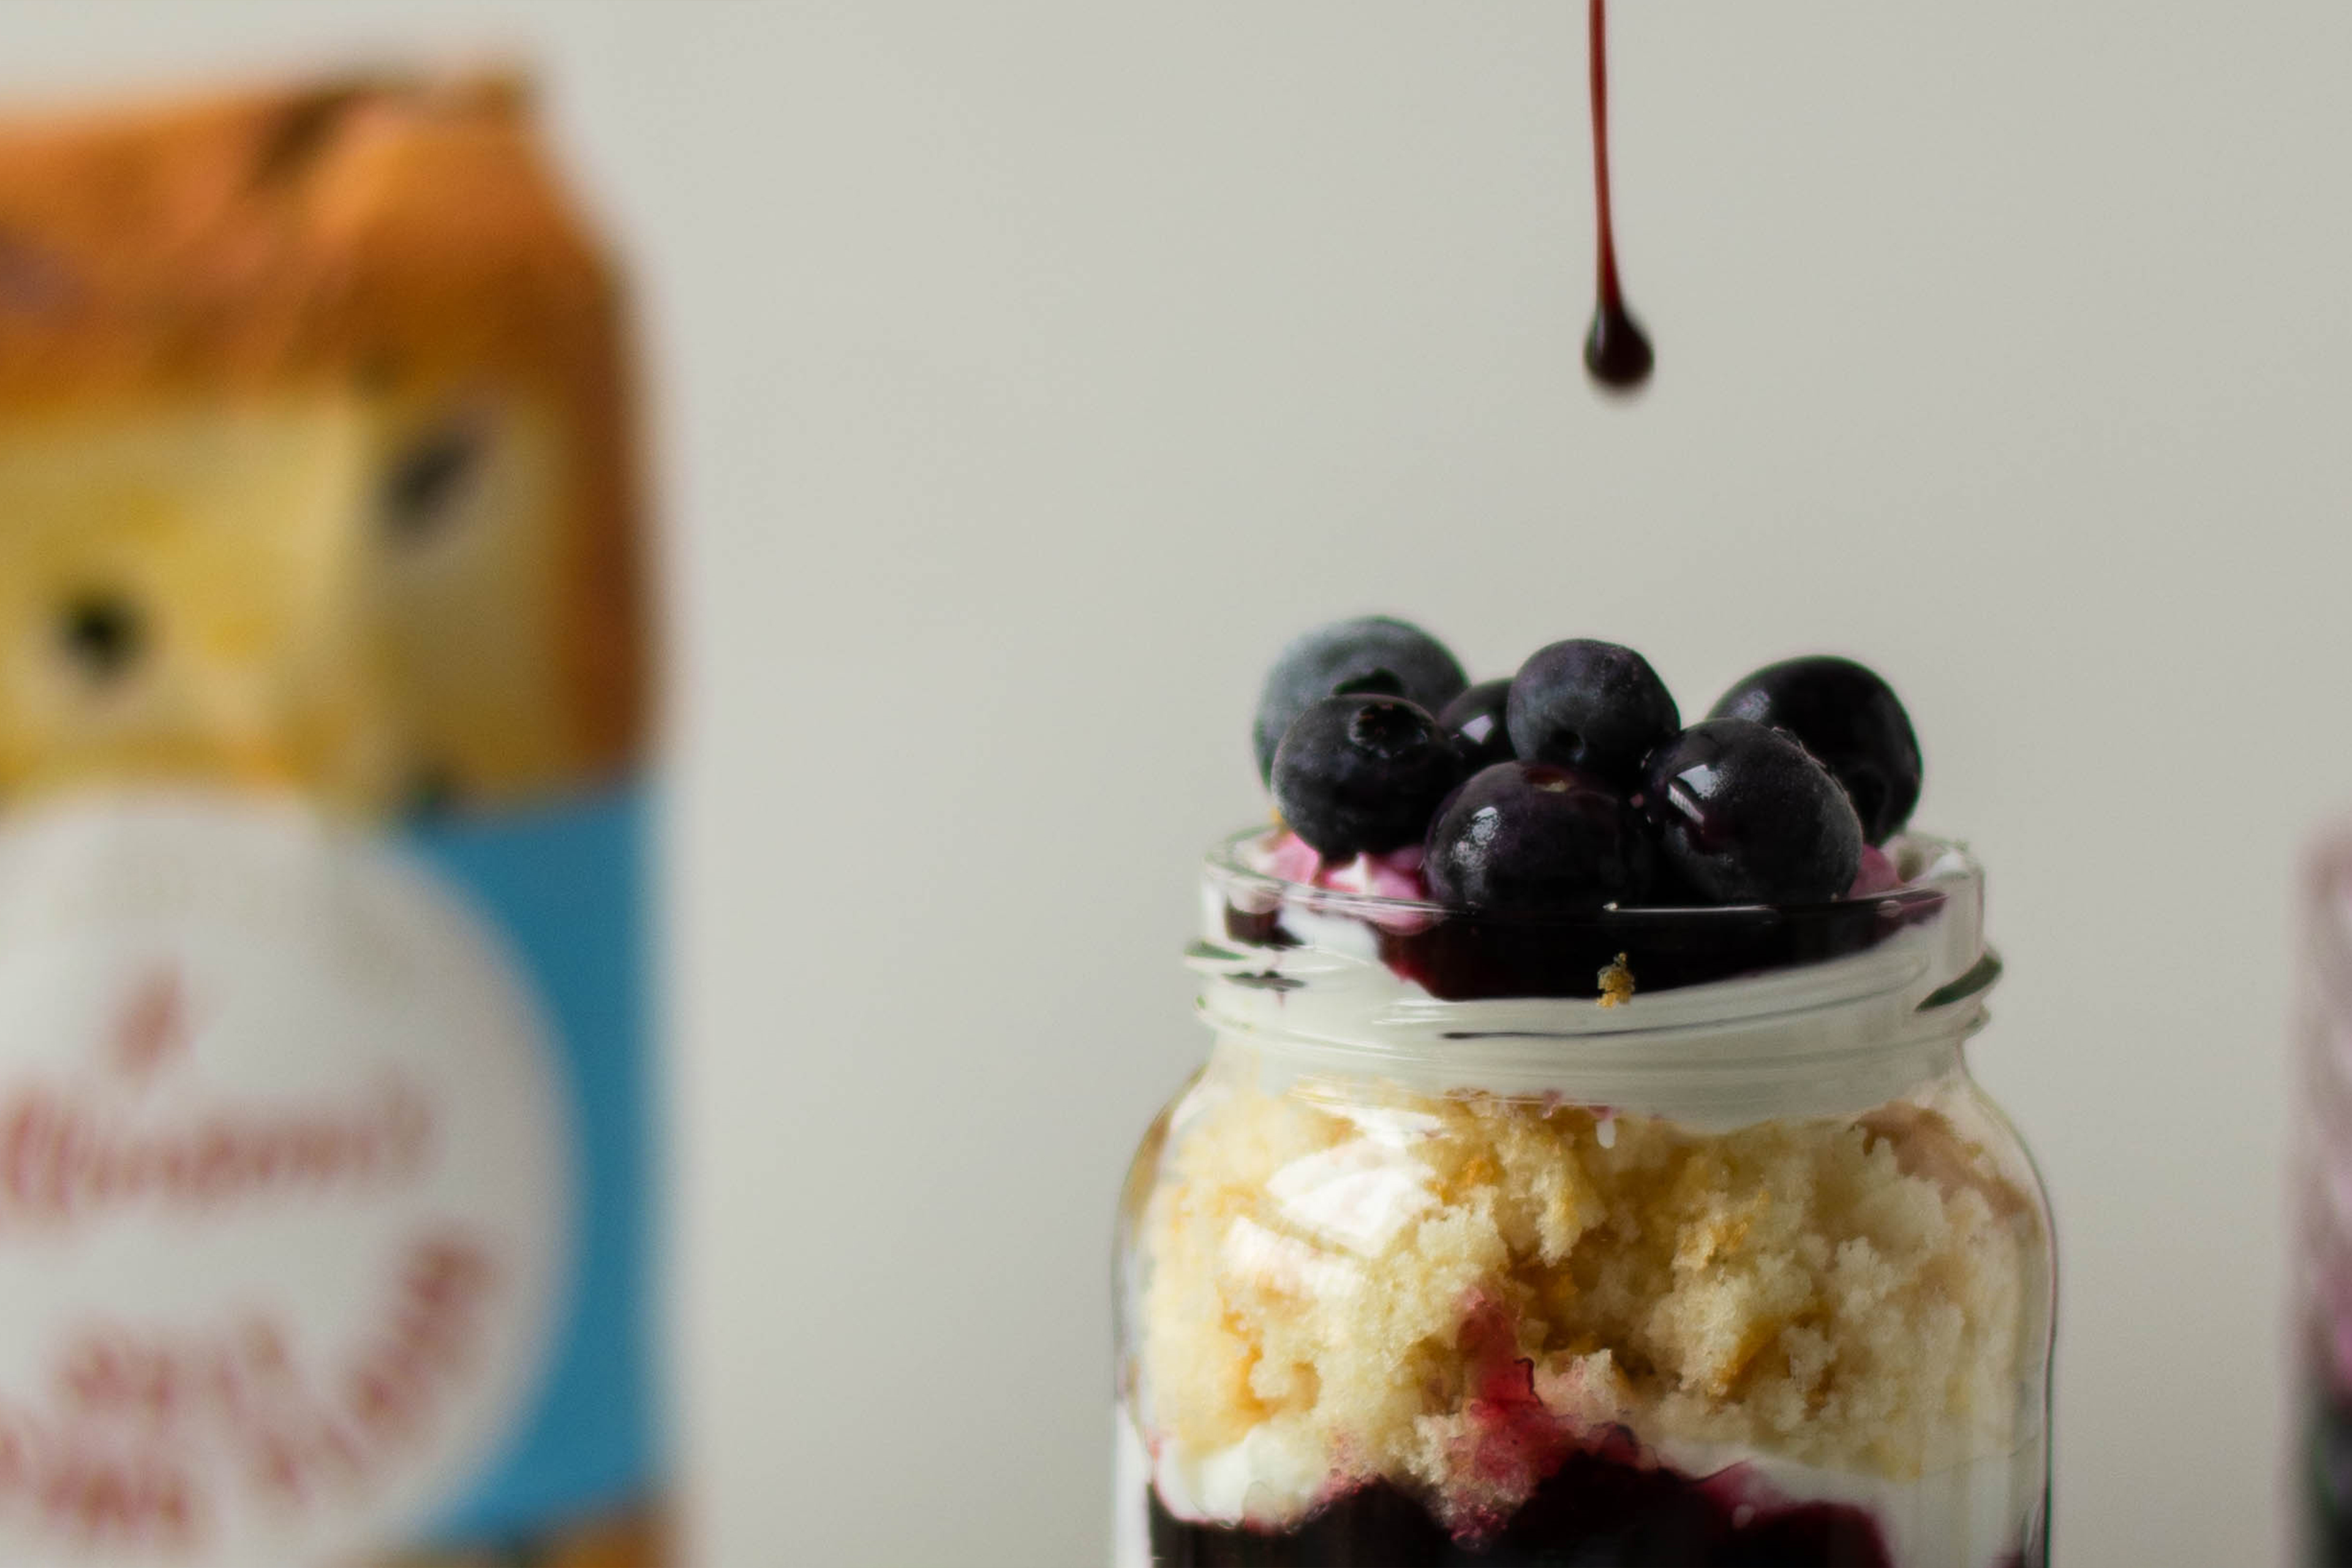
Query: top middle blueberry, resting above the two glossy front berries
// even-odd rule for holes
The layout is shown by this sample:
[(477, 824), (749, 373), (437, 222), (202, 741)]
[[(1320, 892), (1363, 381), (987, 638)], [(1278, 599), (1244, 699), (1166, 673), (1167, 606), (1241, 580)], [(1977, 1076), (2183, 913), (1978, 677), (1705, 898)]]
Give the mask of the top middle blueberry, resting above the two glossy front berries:
[(1510, 745), (1526, 762), (1583, 769), (1632, 788), (1642, 759), (1682, 729), (1649, 661), (1613, 642), (1555, 642), (1510, 682)]

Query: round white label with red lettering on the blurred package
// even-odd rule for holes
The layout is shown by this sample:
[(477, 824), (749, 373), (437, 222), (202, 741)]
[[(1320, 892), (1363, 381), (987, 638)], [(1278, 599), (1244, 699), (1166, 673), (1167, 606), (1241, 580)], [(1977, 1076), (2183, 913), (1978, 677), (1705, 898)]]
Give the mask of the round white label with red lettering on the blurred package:
[(430, 872), (296, 806), (0, 827), (0, 1561), (412, 1540), (529, 1403), (555, 1056)]

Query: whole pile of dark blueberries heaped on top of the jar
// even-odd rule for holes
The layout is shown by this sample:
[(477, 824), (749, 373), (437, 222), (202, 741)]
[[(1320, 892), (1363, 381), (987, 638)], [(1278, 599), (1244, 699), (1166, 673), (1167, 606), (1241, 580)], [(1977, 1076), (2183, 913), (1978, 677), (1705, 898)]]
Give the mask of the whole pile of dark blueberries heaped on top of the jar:
[(1430, 896), (1465, 910), (1823, 903), (1919, 802), (1910, 717), (1849, 658), (1766, 665), (1684, 729), (1632, 649), (1555, 642), (1472, 686), (1388, 616), (1287, 646), (1256, 748), (1317, 856), (1421, 844)]

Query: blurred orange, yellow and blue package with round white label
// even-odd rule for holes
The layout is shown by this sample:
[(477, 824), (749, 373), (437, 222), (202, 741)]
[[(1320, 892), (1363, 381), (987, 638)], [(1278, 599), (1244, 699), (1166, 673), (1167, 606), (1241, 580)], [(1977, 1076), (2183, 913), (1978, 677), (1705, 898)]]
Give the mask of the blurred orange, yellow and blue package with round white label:
[(513, 80), (0, 127), (0, 1561), (661, 1561), (630, 435)]

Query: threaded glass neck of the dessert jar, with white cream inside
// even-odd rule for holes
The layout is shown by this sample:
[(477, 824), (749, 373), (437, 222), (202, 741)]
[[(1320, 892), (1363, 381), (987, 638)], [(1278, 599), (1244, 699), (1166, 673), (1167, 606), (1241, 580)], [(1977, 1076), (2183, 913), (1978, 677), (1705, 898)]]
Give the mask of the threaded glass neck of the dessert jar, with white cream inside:
[[(2002, 973), (1983, 940), (1983, 867), (1926, 835), (1900, 844), (1900, 870), (1912, 872), (1905, 889), (1839, 905), (1604, 910), (1482, 929), (1482, 917), (1425, 900), (1263, 872), (1247, 856), (1265, 832), (1211, 849), (1190, 966), (1211, 1027), (1301, 1072), (1378, 1074), (1437, 1093), (1566, 1095), (1708, 1121), (1875, 1105), (1957, 1060)], [(1870, 940), (1738, 966), (1771, 952), (1780, 924), (1820, 910), (1846, 917), (1844, 936), (1867, 931)], [(1675, 978), (1668, 947), (1639, 947), (1644, 919), (1668, 940), (1677, 929), (1693, 943), (1726, 936), (1733, 961), (1684, 964)], [(1597, 992), (1592, 969), (1576, 976), (1597, 952), (1595, 931), (1609, 938), (1599, 950), (1623, 936), (1635, 952), (1625, 994)], [(1416, 966), (1432, 950), (1534, 961), (1501, 985), (1449, 990), (1444, 976)]]

